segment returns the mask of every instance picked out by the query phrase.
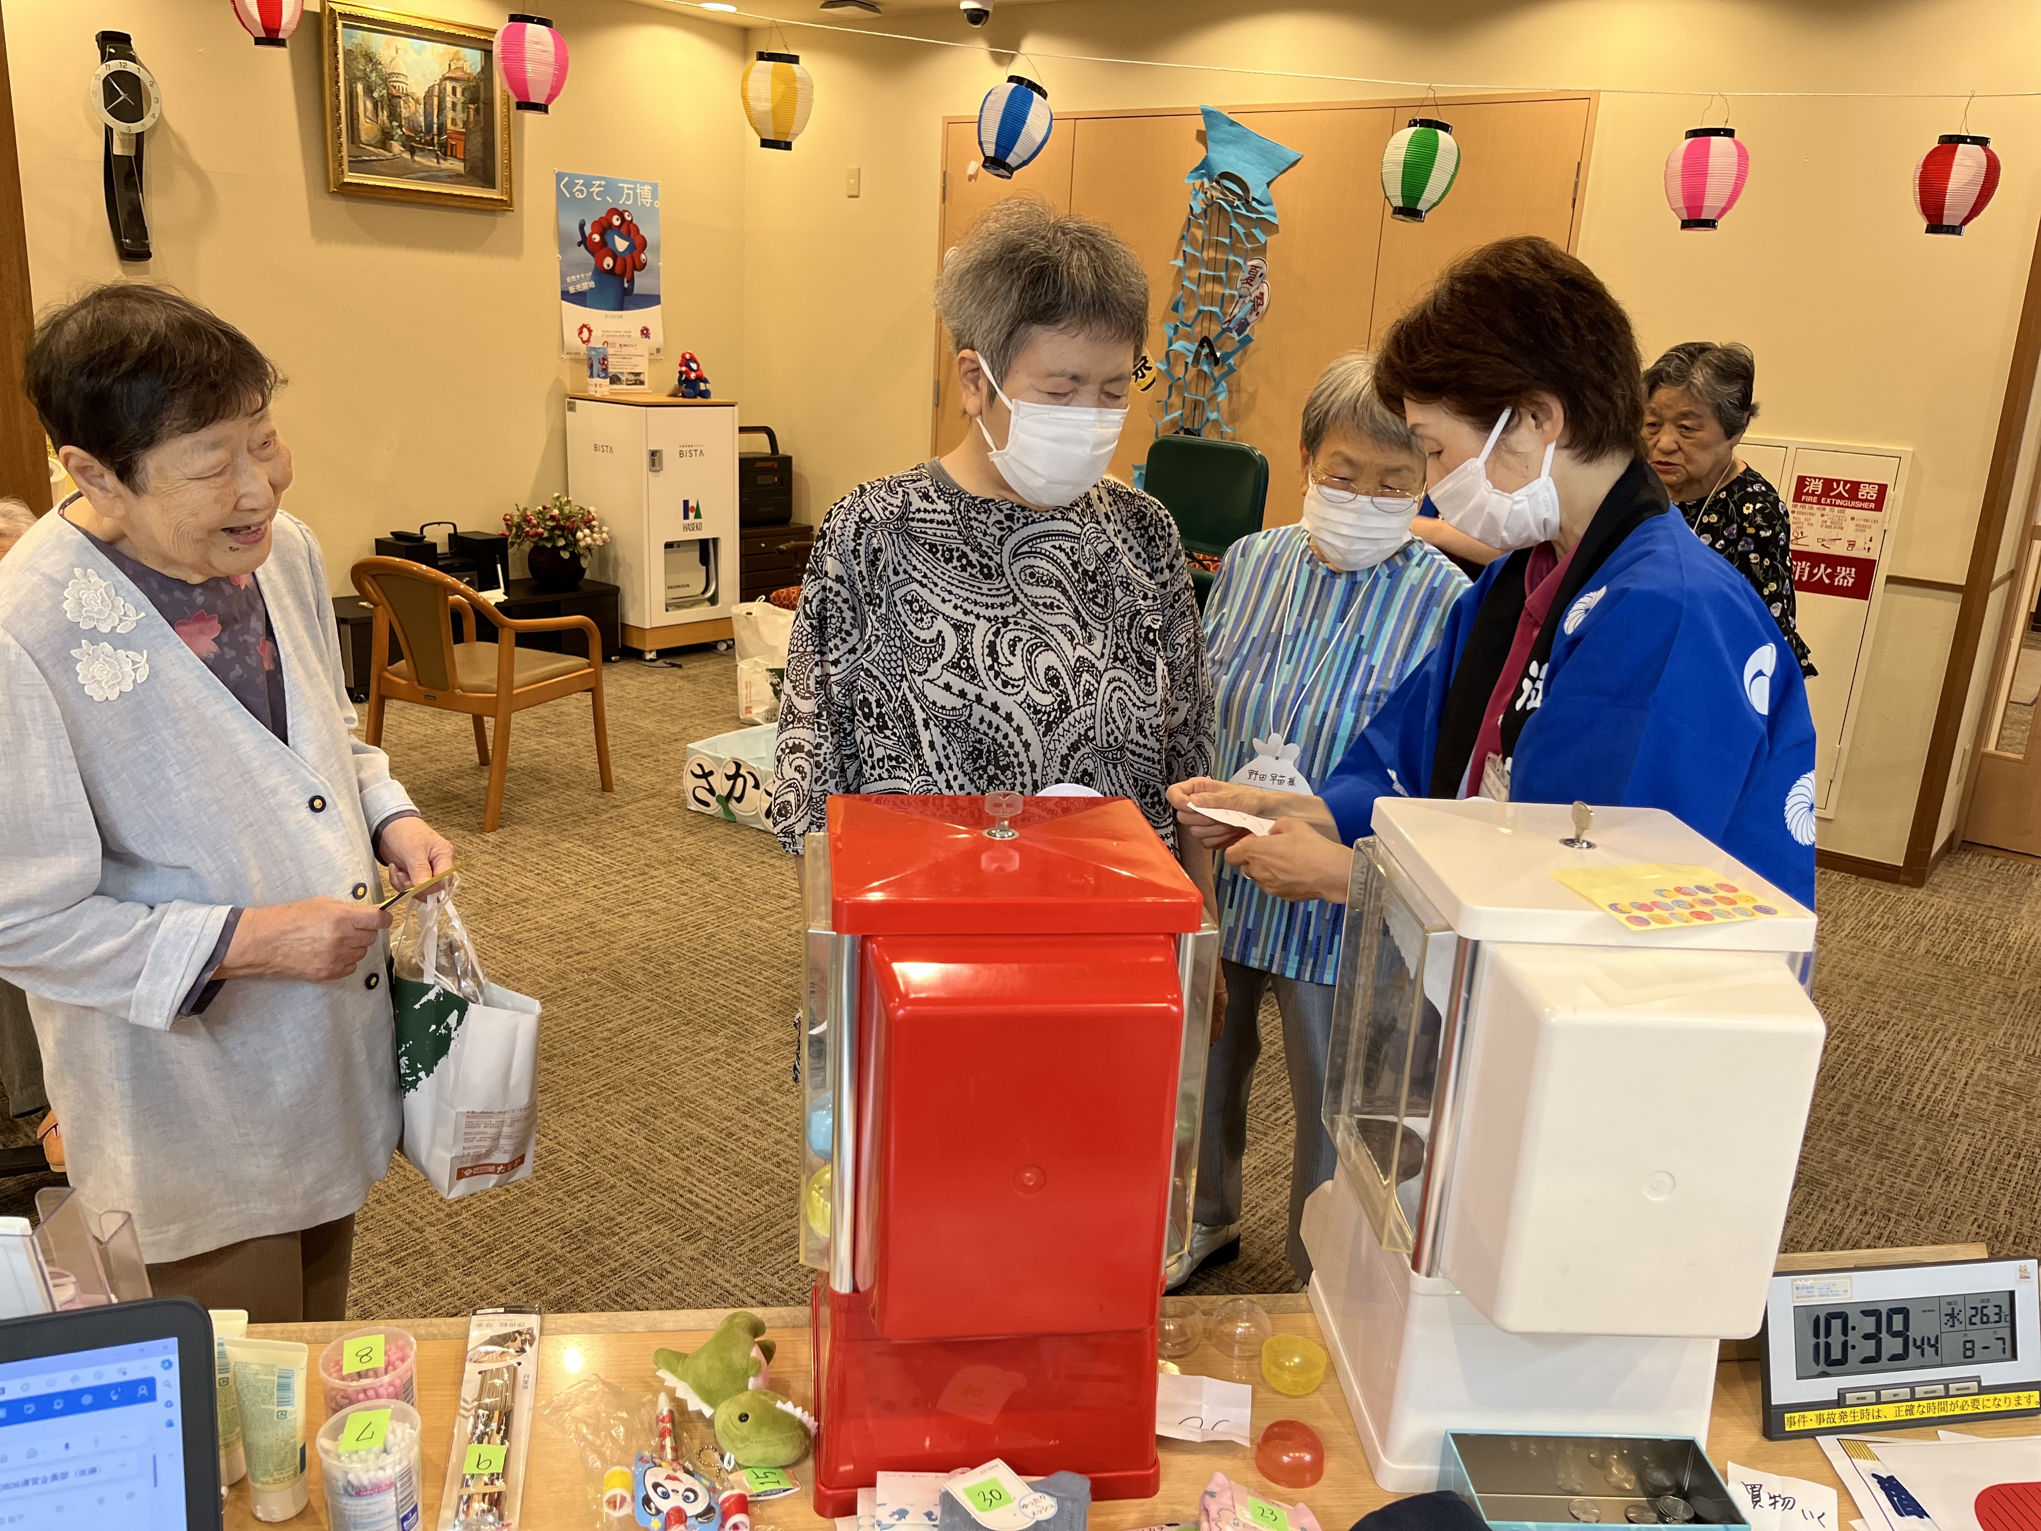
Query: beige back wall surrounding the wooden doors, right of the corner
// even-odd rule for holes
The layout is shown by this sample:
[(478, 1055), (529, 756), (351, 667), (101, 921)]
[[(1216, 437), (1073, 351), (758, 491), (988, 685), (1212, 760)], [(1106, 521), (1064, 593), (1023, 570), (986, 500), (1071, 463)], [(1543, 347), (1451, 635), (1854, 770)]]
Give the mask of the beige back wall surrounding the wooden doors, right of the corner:
[[(1751, 147), (1751, 184), (1714, 235), (1678, 231), (1659, 176), (1708, 90), (2025, 90), (2021, 61), (2041, 49), (2041, 12), (2031, 6), (1069, 0), (1010, 6), (976, 39), (947, 10), (896, 12), (884, 24), (980, 45), (788, 29), (816, 78), (814, 120), (792, 155), (753, 155), (747, 165), (747, 416), (782, 429), (808, 518), (851, 484), (927, 451), (937, 120), (976, 110), (1004, 76), (1010, 55), (986, 47), (1000, 43), (1027, 47), (1065, 108), (1402, 92), (1055, 53), (1400, 76), (1441, 88), (1696, 92), (1602, 96), (1582, 255), (1629, 304), (1647, 353), (1696, 337), (1753, 345), (1768, 435), (1912, 447), (1890, 567), (1963, 578), (2041, 214), (2027, 163), (2041, 104), (1972, 108), (1970, 131), (1994, 135), (2008, 174), (1990, 214), (1961, 239), (1925, 237), (1910, 200), (1912, 163), (1937, 133), (1955, 131), (1961, 102), (1737, 100), (1731, 120)], [(1980, 37), (1992, 39), (1986, 51)], [(849, 165), (863, 171), (855, 202), (843, 194)], [(1355, 186), (1355, 196), (1376, 194)], [(1272, 284), (1282, 302), (1282, 271)], [(1953, 627), (1953, 596), (1888, 594), (1825, 847), (1904, 857)]]

